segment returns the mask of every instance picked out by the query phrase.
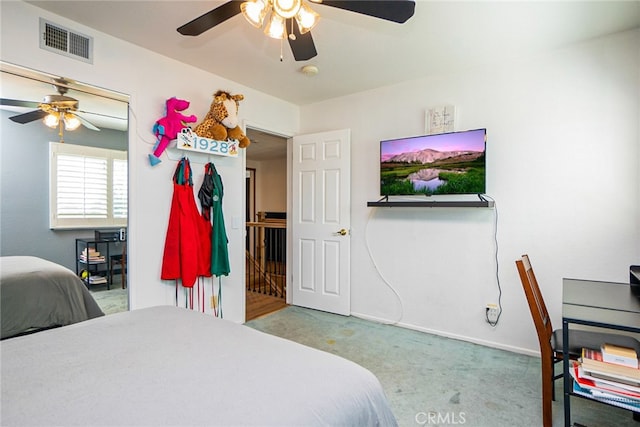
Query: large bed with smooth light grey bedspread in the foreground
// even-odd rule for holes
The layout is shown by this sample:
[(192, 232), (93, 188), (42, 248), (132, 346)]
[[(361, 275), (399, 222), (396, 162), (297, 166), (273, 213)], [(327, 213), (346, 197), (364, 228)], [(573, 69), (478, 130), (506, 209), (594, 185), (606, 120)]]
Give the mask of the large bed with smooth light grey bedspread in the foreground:
[(172, 306), (4, 340), (1, 376), (3, 426), (397, 425), (365, 368)]

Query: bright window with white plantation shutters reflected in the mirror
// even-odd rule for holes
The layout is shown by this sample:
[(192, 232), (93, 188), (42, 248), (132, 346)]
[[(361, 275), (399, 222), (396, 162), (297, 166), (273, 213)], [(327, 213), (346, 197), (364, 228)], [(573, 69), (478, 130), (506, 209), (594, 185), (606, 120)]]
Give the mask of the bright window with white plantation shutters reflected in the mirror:
[(126, 151), (50, 143), (50, 228), (127, 225)]

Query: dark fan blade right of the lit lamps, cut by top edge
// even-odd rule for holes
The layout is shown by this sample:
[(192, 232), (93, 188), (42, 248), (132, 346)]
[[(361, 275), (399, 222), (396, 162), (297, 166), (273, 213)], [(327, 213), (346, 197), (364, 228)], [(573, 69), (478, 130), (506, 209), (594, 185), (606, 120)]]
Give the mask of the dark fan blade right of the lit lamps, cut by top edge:
[(323, 0), (319, 4), (400, 24), (413, 16), (416, 7), (413, 0)]

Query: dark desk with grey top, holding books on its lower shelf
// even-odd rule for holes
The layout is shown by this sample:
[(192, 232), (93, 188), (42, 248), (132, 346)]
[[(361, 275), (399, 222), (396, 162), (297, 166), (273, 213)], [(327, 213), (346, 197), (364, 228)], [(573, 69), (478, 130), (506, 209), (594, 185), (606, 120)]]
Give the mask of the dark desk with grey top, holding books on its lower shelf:
[[(569, 324), (640, 333), (640, 299), (628, 283), (562, 280), (562, 334), (569, 342)], [(569, 374), (568, 346), (564, 346), (564, 425), (571, 425), (573, 379)], [(602, 402), (601, 400), (599, 400)]]

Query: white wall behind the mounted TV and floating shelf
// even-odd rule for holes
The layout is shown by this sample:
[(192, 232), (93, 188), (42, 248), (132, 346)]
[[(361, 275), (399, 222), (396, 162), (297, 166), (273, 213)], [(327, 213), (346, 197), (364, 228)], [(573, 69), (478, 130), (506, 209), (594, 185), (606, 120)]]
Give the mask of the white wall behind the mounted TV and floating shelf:
[[(353, 313), (536, 352), (521, 254), (556, 327), (563, 277), (628, 281), (640, 262), (638, 46), (640, 32), (627, 32), (302, 107), (302, 133), (351, 128)], [(424, 133), (425, 110), (442, 104), (456, 106), (457, 130), (487, 128), (497, 209), (368, 208), (379, 141)], [(503, 314), (492, 328), (496, 214)]]

